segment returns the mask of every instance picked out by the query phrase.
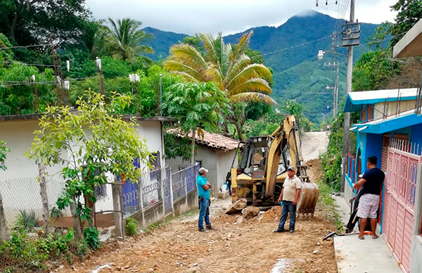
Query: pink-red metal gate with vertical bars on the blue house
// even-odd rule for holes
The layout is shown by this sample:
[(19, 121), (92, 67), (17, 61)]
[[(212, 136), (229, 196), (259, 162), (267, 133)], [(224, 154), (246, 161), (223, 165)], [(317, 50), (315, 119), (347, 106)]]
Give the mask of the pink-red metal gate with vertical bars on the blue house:
[(421, 155), (414, 154), (415, 149), (406, 141), (394, 141), (392, 146), (388, 148), (385, 177), (383, 237), (404, 272), (409, 272), (416, 172)]

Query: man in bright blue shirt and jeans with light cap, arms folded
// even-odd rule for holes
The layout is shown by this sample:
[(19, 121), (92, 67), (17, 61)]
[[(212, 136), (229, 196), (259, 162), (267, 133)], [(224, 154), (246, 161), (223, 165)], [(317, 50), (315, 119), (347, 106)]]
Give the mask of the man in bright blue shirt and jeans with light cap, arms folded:
[(199, 169), (196, 185), (198, 186), (199, 219), (198, 231), (204, 232), (204, 218), (207, 229), (213, 229), (210, 223), (210, 188), (211, 184), (207, 181), (205, 175), (208, 170), (205, 167)]

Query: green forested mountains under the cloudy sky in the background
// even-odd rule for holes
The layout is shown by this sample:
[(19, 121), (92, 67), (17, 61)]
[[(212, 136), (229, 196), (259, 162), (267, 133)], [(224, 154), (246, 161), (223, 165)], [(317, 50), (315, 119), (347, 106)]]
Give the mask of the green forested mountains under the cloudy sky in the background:
[[(345, 97), (345, 80), (347, 59), (345, 56), (324, 54), (323, 61), (317, 58), (318, 51), (332, 51), (332, 34), (334, 30), (341, 32), (344, 20), (331, 18), (328, 15), (308, 12), (306, 15), (295, 15), (279, 27), (253, 27), (244, 32), (224, 37), (227, 43), (237, 43), (245, 33), (253, 30), (250, 48), (264, 55), (265, 65), (274, 70), (274, 86), (271, 97), (278, 103), (286, 99), (295, 99), (305, 106), (305, 116), (312, 122), (319, 123), (333, 115), (333, 87), (335, 67), (339, 63), (339, 105)], [(378, 25), (361, 24), (361, 46), (354, 47), (354, 63), (362, 53), (369, 51), (366, 40), (375, 32)], [(154, 34), (150, 42), (155, 60), (166, 58), (170, 46), (183, 41), (186, 34), (164, 32), (146, 27), (145, 32)], [(347, 49), (335, 49), (340, 54), (347, 54)], [(324, 65), (326, 63), (326, 65)], [(331, 64), (328, 65), (328, 63)], [(277, 106), (276, 106), (277, 107)], [(341, 108), (339, 109), (341, 110)]]

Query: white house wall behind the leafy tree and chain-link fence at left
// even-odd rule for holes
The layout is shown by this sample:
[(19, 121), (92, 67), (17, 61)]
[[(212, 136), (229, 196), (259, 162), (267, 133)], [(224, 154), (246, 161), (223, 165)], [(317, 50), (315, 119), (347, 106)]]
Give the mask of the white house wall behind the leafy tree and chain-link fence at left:
[[(7, 155), (6, 172), (0, 171), (0, 192), (4, 201), (4, 209), (8, 224), (13, 224), (20, 210), (33, 210), (37, 217), (42, 216), (41, 197), (37, 182), (38, 167), (34, 160), (25, 156), (30, 151), (34, 140), (34, 131), (39, 129), (38, 120), (8, 121), (0, 123), (0, 139), (5, 141), (11, 153)], [(160, 151), (163, 154), (160, 122), (139, 122), (136, 127), (139, 136), (146, 139), (149, 151)], [(63, 154), (66, 154), (64, 152)], [(70, 153), (68, 153), (70, 156)], [(162, 166), (165, 165), (162, 159)], [(62, 165), (47, 168), (49, 174), (47, 193), (49, 205), (56, 205), (58, 196), (65, 186), (60, 175)], [(113, 176), (108, 175), (108, 180), (113, 182)], [(82, 199), (82, 198), (81, 198)], [(82, 200), (81, 200), (82, 201)], [(96, 211), (113, 210), (113, 195), (111, 185), (106, 185), (106, 196), (99, 197), (96, 203)], [(70, 216), (70, 210), (63, 211), (64, 216)]]

